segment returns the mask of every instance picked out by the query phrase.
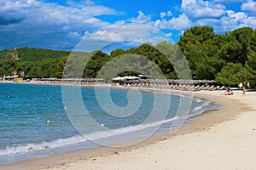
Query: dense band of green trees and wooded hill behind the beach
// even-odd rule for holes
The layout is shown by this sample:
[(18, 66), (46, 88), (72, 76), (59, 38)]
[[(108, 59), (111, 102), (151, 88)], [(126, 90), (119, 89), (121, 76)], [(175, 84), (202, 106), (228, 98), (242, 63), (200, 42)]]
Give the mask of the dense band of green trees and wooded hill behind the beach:
[[(142, 44), (138, 48), (127, 50), (116, 49), (110, 54), (102, 51), (86, 54), (79, 52), (73, 54), (73, 58), (79, 61), (79, 67), (83, 69), (83, 75), (79, 77), (99, 77), (103, 65), (120, 55), (134, 54), (146, 56), (154, 61), (160, 70), (169, 79), (177, 78), (173, 62), (178, 62), (177, 47), (189, 62), (193, 79), (216, 80), (220, 84), (236, 85), (239, 82), (251, 82), (256, 84), (256, 30), (243, 27), (235, 31), (216, 34), (211, 26), (195, 26), (184, 31), (177, 44), (160, 42), (153, 46)], [(166, 59), (161, 49), (167, 49), (172, 60)], [(0, 77), (11, 75), (13, 71), (24, 71), (27, 77), (62, 77), (64, 66), (67, 69), (77, 69), (78, 64), (73, 63), (70, 51), (54, 51), (38, 48), (15, 48), (0, 51)], [(83, 63), (86, 56), (92, 56), (84, 69)], [(170, 57), (168, 56), (168, 57)], [(79, 60), (78, 60), (79, 58)], [(68, 59), (68, 60), (67, 60)], [(68, 61), (68, 62), (67, 62)], [(87, 62), (87, 61), (86, 61)], [(125, 63), (125, 60), (124, 60)], [(147, 70), (147, 74), (153, 74), (150, 63), (136, 63), (137, 68)], [(112, 65), (112, 72), (125, 65)], [(119, 76), (137, 75), (137, 71), (118, 73)], [(182, 69), (181, 69), (182, 70)], [(77, 77), (76, 75), (66, 75)]]

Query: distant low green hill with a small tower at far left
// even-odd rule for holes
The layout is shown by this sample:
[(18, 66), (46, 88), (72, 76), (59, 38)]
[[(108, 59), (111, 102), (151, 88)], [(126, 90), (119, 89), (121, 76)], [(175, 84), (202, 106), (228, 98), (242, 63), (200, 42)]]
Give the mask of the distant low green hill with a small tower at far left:
[(71, 51), (57, 51), (42, 48), (14, 48), (0, 51), (0, 59), (20, 59), (21, 61), (37, 61), (46, 58), (61, 58)]

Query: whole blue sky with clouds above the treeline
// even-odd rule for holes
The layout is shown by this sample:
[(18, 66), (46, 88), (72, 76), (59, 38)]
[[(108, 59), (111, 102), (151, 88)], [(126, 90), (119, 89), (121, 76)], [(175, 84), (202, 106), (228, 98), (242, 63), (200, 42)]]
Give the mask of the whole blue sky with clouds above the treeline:
[[(1, 0), (0, 49), (72, 50), (92, 34), (113, 42), (133, 41), (139, 35), (150, 42), (148, 35), (143, 37), (143, 26), (177, 42), (191, 26), (212, 26), (216, 33), (242, 26), (255, 29), (255, 10), (255, 0)], [(143, 26), (130, 25), (128, 31), (127, 24)]]

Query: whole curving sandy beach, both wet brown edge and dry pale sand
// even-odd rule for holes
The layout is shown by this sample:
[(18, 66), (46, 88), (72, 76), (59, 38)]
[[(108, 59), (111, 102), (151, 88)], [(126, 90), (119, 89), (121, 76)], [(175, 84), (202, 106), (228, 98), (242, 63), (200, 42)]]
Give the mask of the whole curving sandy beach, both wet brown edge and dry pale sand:
[(22, 161), (0, 169), (255, 169), (256, 92), (195, 92), (195, 97), (223, 105), (196, 116), (176, 133), (154, 135), (125, 148), (74, 150)]

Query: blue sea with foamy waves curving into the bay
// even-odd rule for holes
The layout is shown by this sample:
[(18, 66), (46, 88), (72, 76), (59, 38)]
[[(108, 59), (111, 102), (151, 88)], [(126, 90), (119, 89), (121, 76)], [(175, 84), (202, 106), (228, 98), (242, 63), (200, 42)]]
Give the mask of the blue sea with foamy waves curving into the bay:
[(0, 83), (0, 164), (143, 141), (220, 107), (181, 94)]

